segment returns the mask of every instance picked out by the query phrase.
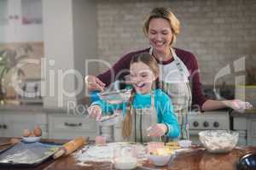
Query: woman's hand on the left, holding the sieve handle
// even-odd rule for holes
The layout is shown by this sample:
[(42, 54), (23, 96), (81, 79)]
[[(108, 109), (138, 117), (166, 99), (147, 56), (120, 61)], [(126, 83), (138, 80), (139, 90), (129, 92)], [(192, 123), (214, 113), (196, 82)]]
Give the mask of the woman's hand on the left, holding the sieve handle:
[(85, 77), (85, 87), (87, 87), (89, 91), (100, 90), (103, 92), (105, 86), (106, 84), (95, 76), (89, 75)]

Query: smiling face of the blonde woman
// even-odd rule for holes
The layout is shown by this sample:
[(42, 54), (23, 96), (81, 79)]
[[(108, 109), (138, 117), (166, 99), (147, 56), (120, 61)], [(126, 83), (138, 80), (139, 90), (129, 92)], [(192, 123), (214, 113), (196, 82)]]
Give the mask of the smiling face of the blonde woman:
[(148, 39), (154, 50), (165, 53), (172, 42), (172, 27), (166, 19), (151, 19), (148, 26)]

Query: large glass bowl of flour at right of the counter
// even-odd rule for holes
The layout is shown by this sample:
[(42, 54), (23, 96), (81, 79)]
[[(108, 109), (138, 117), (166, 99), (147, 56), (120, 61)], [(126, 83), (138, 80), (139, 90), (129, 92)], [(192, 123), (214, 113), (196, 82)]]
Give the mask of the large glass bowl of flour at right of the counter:
[(211, 153), (227, 153), (235, 148), (239, 133), (228, 130), (207, 130), (199, 134), (201, 144)]

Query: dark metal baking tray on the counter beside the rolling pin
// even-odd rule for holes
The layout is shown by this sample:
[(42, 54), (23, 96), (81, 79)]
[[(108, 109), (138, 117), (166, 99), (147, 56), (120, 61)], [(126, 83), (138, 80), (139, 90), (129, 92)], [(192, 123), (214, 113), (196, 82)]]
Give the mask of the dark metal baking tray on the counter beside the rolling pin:
[(0, 166), (34, 167), (53, 156), (60, 146), (20, 142), (0, 153)]

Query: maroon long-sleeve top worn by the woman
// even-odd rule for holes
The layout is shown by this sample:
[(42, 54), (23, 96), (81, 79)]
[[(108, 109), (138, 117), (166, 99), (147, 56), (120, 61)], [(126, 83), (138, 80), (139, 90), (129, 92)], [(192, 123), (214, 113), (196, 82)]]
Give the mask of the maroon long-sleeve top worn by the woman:
[[(189, 80), (192, 82), (192, 105), (198, 105), (201, 109), (201, 106), (205, 103), (207, 99), (202, 93), (199, 68), (195, 55), (180, 48), (174, 49), (177, 57), (179, 57), (183, 61), (184, 65), (186, 65), (187, 69), (189, 70)], [(121, 59), (119, 59), (119, 61), (117, 61), (113, 65), (112, 68), (98, 75), (97, 77), (102, 82), (106, 83), (107, 86), (115, 80), (123, 79), (126, 75), (129, 74), (132, 57), (144, 52), (149, 52), (149, 48), (125, 54)], [(161, 65), (167, 65), (173, 61), (173, 58), (164, 62), (160, 62), (158, 59), (157, 61)]]

